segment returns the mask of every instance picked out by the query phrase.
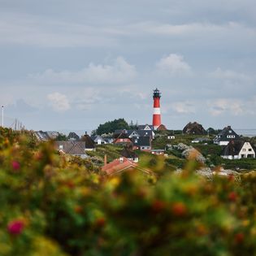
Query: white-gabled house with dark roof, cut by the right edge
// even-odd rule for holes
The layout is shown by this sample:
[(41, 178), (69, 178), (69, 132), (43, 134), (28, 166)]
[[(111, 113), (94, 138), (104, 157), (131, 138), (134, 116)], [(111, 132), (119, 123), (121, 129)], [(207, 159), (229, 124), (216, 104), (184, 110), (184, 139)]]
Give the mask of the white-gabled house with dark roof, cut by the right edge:
[(247, 141), (229, 141), (221, 157), (227, 159), (255, 158), (255, 150)]

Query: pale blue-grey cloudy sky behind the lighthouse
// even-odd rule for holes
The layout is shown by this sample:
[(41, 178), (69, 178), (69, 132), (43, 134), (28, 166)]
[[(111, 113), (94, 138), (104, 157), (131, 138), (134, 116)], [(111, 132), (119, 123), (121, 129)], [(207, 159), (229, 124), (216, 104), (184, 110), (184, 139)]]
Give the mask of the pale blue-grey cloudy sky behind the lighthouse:
[(255, 0), (0, 0), (6, 124), (256, 128)]

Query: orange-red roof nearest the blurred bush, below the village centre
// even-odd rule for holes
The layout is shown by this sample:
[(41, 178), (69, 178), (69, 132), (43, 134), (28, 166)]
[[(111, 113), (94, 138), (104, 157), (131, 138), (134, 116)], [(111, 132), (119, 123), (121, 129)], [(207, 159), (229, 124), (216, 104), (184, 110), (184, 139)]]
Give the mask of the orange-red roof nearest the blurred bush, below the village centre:
[(102, 171), (105, 172), (109, 176), (120, 174), (123, 171), (134, 171), (134, 170), (142, 171), (145, 174), (152, 173), (150, 170), (141, 168), (138, 166), (137, 163), (134, 163), (132, 160), (129, 160), (128, 158), (124, 158), (124, 157), (115, 159), (111, 163), (106, 163), (102, 167)]

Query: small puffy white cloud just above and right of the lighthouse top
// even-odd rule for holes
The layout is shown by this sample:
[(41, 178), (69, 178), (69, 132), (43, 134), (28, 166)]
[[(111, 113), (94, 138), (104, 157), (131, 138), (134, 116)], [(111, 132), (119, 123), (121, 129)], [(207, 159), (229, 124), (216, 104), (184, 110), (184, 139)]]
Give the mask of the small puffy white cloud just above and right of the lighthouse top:
[(167, 72), (174, 76), (177, 74), (188, 74), (191, 70), (189, 64), (184, 61), (184, 57), (179, 54), (170, 54), (158, 61), (156, 64), (158, 71)]

